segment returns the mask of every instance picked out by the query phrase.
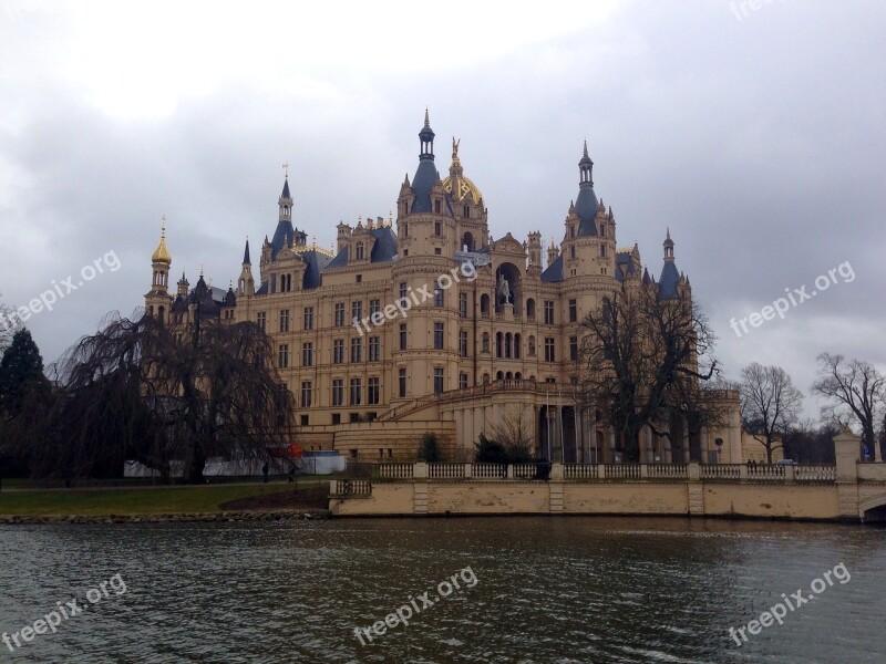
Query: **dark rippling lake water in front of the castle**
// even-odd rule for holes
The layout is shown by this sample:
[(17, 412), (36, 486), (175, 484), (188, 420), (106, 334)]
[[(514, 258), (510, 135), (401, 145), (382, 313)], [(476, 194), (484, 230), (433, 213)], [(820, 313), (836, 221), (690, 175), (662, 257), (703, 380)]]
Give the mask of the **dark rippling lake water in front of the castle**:
[[(0, 643), (0, 662), (886, 662), (886, 530), (867, 527), (585, 517), (0, 526), (0, 633), (33, 626), (59, 602), (86, 606), (54, 634), (20, 636), (14, 653)], [(813, 599), (782, 625), (746, 631), (800, 589)], [(373, 632), (401, 606), (408, 626)], [(748, 641), (739, 646), (730, 626)]]

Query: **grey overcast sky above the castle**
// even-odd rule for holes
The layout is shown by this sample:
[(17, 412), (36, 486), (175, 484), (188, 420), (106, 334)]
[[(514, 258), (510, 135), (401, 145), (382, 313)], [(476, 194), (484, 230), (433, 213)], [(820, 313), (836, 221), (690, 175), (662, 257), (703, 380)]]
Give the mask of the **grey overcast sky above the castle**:
[[(319, 245), (387, 218), (429, 106), (495, 238), (563, 237), (587, 138), (618, 245), (658, 276), (670, 227), (729, 377), (886, 371), (882, 0), (319, 4), (0, 0), (0, 302), (103, 268), (28, 321), (47, 363), (143, 305), (164, 214), (171, 281), (227, 287), (285, 162)], [(731, 329), (785, 289), (784, 319)]]

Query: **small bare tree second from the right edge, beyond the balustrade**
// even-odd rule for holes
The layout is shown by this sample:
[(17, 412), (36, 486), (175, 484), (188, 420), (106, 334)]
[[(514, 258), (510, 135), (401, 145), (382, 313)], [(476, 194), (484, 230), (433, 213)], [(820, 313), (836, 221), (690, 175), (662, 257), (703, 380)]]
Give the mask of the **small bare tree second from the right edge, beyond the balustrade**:
[(763, 445), (771, 464), (772, 453), (783, 447), (800, 418), (803, 393), (781, 366), (754, 362), (741, 370), (740, 394), (742, 428)]

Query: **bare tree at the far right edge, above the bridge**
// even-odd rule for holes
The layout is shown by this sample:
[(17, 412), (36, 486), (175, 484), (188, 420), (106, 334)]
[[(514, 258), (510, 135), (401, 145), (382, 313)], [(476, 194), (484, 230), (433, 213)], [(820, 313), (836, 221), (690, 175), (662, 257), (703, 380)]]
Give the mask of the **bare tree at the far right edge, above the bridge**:
[(823, 417), (838, 425), (856, 419), (862, 427), (862, 445), (873, 450), (874, 430), (886, 397), (886, 377), (867, 362), (846, 361), (843, 355), (830, 353), (818, 355), (818, 376), (812, 391), (828, 400)]

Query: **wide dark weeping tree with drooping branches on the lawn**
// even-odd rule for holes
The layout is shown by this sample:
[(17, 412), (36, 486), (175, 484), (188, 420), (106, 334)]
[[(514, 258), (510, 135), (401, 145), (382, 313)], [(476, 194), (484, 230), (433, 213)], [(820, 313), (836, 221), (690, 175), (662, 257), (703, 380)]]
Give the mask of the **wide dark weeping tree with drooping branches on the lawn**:
[(34, 469), (50, 476), (120, 475), (125, 459), (168, 480), (182, 461), (199, 481), (208, 457), (268, 460), (290, 442), (291, 396), (255, 323), (167, 328), (112, 314), (56, 364), (61, 395)]

